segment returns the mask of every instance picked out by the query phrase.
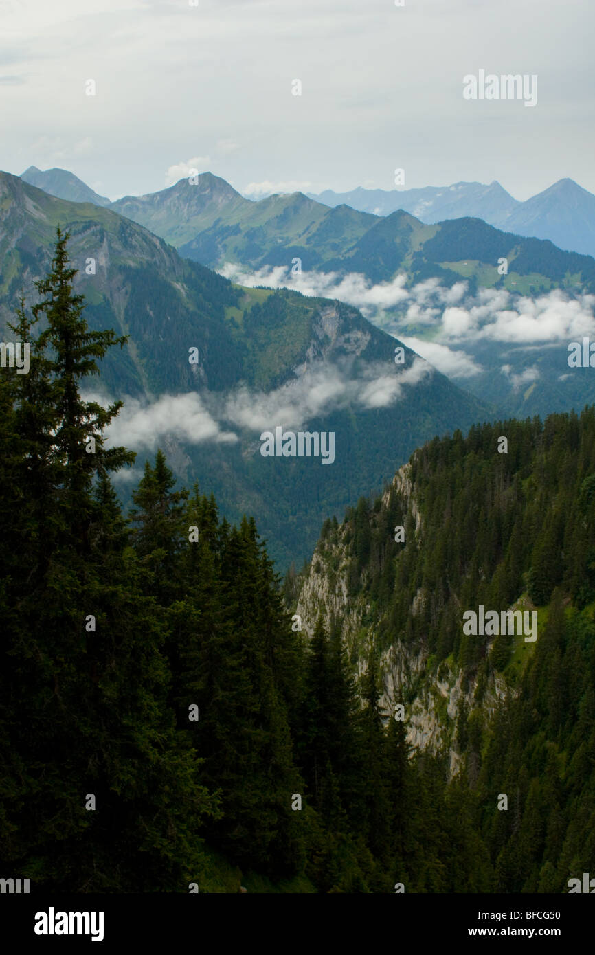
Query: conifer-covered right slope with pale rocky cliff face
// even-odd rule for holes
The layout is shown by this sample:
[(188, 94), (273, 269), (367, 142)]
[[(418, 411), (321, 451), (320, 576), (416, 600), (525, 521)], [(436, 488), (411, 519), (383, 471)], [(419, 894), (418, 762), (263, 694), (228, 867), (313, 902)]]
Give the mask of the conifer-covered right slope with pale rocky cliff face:
[[(287, 577), (308, 633), (322, 613), (354, 670), (378, 667), (385, 718), (402, 705), (414, 749), (443, 753), (495, 890), (567, 892), (592, 870), (593, 520), (595, 409), (509, 420), (419, 449)], [(465, 631), (480, 607), (537, 629)]]

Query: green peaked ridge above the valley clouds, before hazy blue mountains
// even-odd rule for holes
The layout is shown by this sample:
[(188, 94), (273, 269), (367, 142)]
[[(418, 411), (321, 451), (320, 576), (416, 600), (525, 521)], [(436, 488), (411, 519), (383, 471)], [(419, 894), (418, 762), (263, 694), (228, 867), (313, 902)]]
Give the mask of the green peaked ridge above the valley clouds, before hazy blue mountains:
[[(595, 288), (590, 256), (479, 219), (425, 225), (402, 209), (379, 217), (344, 204), (329, 209), (302, 193), (250, 202), (211, 173), (195, 184), (180, 180), (161, 192), (126, 197), (112, 208), (177, 245), (183, 257), (211, 267), (290, 268), (297, 256), (303, 268), (362, 272), (372, 282), (404, 272), (411, 283), (436, 277), (452, 286), (464, 278), (472, 290)], [(509, 261), (507, 275), (499, 275), (500, 257)]]

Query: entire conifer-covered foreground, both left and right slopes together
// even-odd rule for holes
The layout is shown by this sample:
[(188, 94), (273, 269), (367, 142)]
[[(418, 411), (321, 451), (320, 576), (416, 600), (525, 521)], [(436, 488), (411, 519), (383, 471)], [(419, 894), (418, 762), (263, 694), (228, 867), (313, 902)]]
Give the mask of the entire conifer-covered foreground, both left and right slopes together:
[[(73, 278), (60, 237), (12, 323), (30, 371), (0, 370), (2, 871), (70, 892), (566, 891), (595, 839), (594, 410), (426, 445), (327, 522), (326, 587), (290, 615), (254, 521), (176, 488), (160, 452), (121, 513), (120, 406), (80, 389), (123, 342), (87, 327)], [(465, 607), (525, 587), (528, 653), (460, 638)], [(408, 742), (405, 680), (387, 711), (397, 644), (422, 681), (474, 688), (440, 746)]]

